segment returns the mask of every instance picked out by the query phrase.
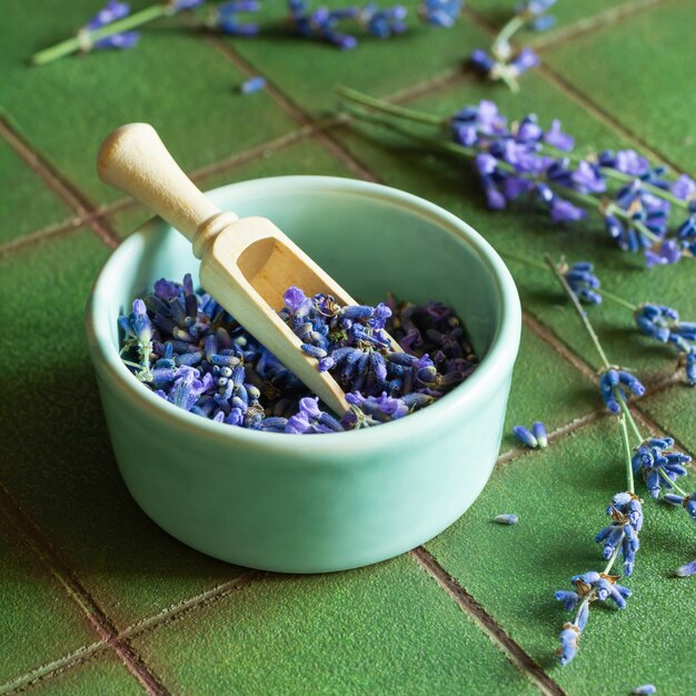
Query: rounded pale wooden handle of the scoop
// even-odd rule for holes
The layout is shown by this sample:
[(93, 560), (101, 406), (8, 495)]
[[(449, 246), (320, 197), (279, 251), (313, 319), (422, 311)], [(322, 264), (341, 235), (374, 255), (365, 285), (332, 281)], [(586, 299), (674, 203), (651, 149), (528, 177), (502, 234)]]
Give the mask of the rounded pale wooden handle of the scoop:
[(186, 176), (149, 123), (128, 123), (107, 136), (97, 158), (106, 183), (132, 196), (177, 228), (202, 258), (206, 247), (230, 222)]

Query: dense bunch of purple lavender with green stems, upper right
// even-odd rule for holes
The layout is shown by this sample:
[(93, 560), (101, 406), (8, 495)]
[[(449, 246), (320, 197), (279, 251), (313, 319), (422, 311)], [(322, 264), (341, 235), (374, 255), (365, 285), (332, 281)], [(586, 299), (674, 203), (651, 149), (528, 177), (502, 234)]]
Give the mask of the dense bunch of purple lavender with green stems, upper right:
[[(494, 210), (527, 198), (557, 223), (570, 225), (594, 212), (617, 247), (643, 252), (648, 268), (696, 252), (696, 182), (685, 175), (669, 178), (665, 167), (652, 167), (634, 150), (576, 156), (575, 139), (558, 120), (547, 130), (534, 115), (508, 125), (491, 101), (441, 118), (345, 87), (338, 91), (352, 105), (378, 112), (349, 105), (355, 117), (471, 161)], [(431, 126), (436, 132), (416, 132), (401, 121)], [(675, 212), (686, 213), (686, 220), (670, 225)]]

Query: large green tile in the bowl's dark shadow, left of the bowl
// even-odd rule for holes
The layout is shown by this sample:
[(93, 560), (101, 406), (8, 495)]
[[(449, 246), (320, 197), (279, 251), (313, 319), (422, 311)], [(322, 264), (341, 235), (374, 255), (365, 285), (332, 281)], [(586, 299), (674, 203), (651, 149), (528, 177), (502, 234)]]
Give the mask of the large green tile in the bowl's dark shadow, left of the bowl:
[(0, 264), (0, 295), (22, 289), (21, 315), (4, 319), (12, 369), (0, 405), (0, 477), (123, 627), (239, 570), (161, 531), (118, 474), (83, 338), (84, 302), (107, 256), (80, 231)]

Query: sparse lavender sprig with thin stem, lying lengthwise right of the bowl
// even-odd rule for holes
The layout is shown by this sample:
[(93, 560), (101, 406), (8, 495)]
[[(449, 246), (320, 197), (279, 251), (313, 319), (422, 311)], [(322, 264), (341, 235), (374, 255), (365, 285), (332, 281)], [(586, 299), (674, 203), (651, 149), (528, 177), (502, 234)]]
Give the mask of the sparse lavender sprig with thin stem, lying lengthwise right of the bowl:
[(559, 635), (558, 658), (561, 665), (567, 665), (577, 654), (579, 637), (587, 625), (591, 604), (613, 599), (616, 606), (623, 609), (626, 607), (626, 598), (630, 596), (630, 590), (617, 583), (619, 576), (610, 575), (610, 571), (620, 555), (624, 561), (624, 575), (630, 576), (636, 554), (640, 548), (638, 533), (643, 528), (643, 506), (635, 491), (634, 474), (643, 474), (648, 490), (655, 498), (663, 493), (663, 489), (674, 489), (676, 493), (664, 494), (663, 499), (672, 505), (684, 507), (695, 520), (696, 493), (688, 495), (676, 483), (678, 477), (686, 476), (684, 465), (690, 461), (690, 457), (675, 451), (672, 438), (646, 439), (642, 436), (628, 407), (625, 388), (630, 389), (637, 396), (642, 396), (645, 388), (633, 375), (609, 364), (599, 338), (580, 305), (578, 295), (564, 274), (563, 266), (556, 265), (548, 256), (545, 257), (545, 261), (568, 295), (599, 355), (603, 364), (599, 388), (607, 407), (617, 416), (626, 463), (627, 489), (612, 498), (607, 507), (607, 515), (612, 521), (595, 537), (596, 541), (603, 545), (603, 556), (607, 559), (606, 566), (600, 573), (590, 570), (584, 575), (574, 576), (571, 583), (575, 591), (558, 590), (555, 595), (556, 599), (564, 603), (566, 609), (577, 608), (574, 620), (566, 623)]

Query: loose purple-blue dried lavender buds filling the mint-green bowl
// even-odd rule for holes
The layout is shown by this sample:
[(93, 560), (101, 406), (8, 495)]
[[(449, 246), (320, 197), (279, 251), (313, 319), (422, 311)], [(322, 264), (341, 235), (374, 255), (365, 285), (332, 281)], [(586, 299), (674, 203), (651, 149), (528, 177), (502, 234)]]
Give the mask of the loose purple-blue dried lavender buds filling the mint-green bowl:
[[(215, 298), (160, 279), (121, 316), (123, 362), (158, 396), (192, 414), (270, 432), (337, 432), (395, 420), (464, 381), (478, 365), (464, 327), (440, 302), (389, 297), (376, 307), (339, 306), (289, 288), (280, 317), (342, 386), (338, 420)], [(386, 334), (406, 352), (394, 352)]]

